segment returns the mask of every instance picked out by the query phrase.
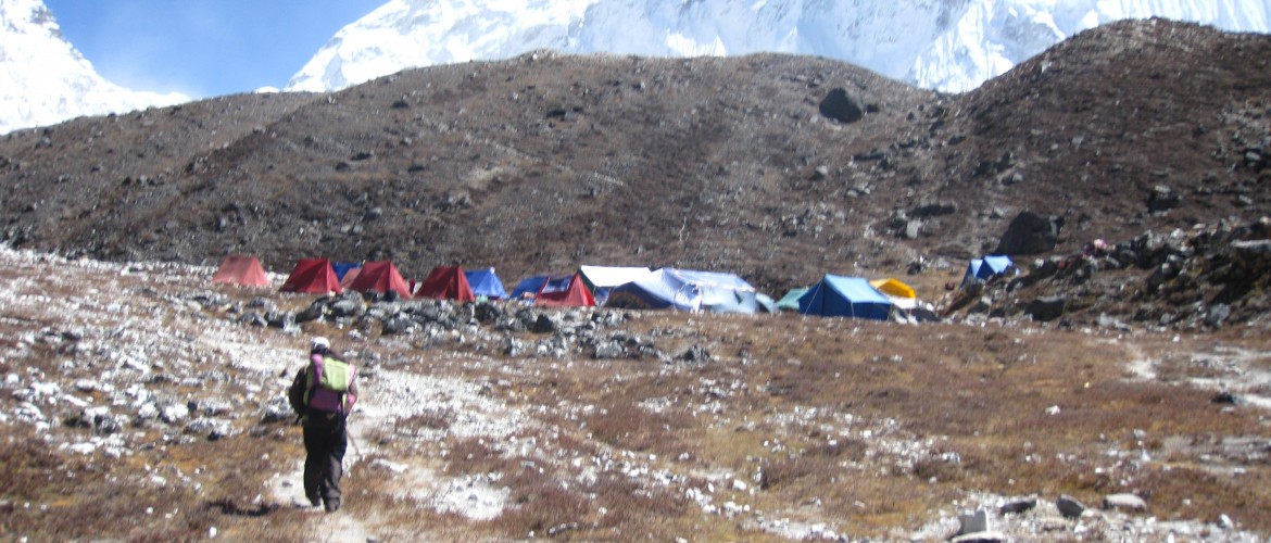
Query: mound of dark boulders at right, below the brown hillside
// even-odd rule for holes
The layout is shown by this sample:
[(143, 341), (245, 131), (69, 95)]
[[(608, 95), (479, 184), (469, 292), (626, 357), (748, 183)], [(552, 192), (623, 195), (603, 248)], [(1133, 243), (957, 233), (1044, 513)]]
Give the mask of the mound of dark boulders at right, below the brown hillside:
[(1216, 329), (1271, 322), (1271, 219), (1145, 231), (1094, 240), (1082, 253), (1038, 258), (1026, 275), (963, 289), (948, 313), (1101, 328)]

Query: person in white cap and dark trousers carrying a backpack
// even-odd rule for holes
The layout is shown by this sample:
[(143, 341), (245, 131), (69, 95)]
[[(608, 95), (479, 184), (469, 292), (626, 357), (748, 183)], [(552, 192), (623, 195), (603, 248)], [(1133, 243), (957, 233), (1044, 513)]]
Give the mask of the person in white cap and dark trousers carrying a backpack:
[(330, 341), (315, 337), (309, 364), (296, 373), (287, 398), (304, 422), (305, 497), (327, 512), (341, 506), (339, 478), (343, 476), (344, 449), (348, 446), (348, 413), (357, 402), (356, 371), (332, 351)]

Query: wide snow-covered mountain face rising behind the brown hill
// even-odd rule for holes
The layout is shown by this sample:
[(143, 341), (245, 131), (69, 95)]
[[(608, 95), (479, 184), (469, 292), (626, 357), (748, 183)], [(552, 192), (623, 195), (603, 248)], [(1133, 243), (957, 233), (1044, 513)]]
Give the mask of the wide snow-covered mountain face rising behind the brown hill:
[(1150, 17), (1271, 32), (1260, 0), (390, 0), (341, 29), (289, 89), (552, 48), (813, 55), (963, 92), (1080, 31)]

